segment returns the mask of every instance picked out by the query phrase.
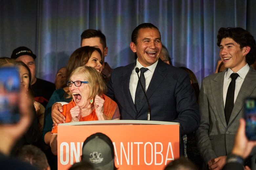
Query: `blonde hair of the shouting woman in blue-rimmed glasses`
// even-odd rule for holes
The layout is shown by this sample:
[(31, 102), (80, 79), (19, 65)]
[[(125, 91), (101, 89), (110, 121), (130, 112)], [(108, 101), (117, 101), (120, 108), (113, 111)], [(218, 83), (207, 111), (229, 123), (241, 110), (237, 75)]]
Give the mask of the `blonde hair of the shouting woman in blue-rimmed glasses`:
[(99, 72), (97, 72), (95, 68), (88, 66), (77, 67), (70, 74), (70, 77), (75, 74), (81, 74), (86, 79), (86, 81), (88, 81), (88, 85), (90, 87), (88, 99), (94, 99), (97, 94), (102, 95), (103, 93), (107, 92), (107, 86), (102, 77), (100, 76)]

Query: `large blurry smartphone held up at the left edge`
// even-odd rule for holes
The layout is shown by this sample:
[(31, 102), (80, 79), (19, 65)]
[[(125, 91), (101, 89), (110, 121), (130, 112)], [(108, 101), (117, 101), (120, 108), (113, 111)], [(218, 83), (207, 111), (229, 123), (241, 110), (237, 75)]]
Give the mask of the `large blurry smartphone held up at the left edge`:
[(0, 68), (0, 124), (14, 124), (19, 114), (20, 76), (15, 67)]

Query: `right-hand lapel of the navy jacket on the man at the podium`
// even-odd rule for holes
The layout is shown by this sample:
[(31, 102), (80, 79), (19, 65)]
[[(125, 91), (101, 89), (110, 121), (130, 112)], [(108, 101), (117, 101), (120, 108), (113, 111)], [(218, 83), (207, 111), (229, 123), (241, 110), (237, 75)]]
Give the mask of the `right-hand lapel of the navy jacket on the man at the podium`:
[[(166, 76), (167, 73), (165, 71), (166, 71), (166, 67), (165, 67), (164, 63), (162, 61), (160, 61), (160, 59), (159, 59), (158, 63), (157, 63), (157, 66), (156, 66), (156, 69), (155, 69), (155, 71), (153, 73), (153, 76), (151, 78), (151, 81), (149, 83), (147, 92), (146, 92), (148, 100), (150, 99), (151, 95), (156, 91), (156, 89), (158, 88), (158, 86), (161, 84), (162, 80)], [(139, 112), (145, 104), (147, 105), (147, 100), (144, 97), (141, 104), (140, 104)]]

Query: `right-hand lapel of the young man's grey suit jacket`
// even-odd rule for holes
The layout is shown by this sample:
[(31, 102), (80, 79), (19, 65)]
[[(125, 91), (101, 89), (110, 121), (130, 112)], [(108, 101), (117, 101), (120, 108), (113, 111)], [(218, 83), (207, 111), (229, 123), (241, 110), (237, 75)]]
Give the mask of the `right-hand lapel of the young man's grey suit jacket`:
[(237, 95), (236, 102), (234, 104), (234, 108), (230, 115), (228, 125), (230, 125), (234, 121), (236, 116), (244, 107), (244, 99), (250, 96), (250, 94), (253, 92), (255, 87), (256, 87), (256, 72), (253, 70), (253, 68), (250, 67), (247, 75), (245, 76), (245, 80), (241, 86), (241, 89)]

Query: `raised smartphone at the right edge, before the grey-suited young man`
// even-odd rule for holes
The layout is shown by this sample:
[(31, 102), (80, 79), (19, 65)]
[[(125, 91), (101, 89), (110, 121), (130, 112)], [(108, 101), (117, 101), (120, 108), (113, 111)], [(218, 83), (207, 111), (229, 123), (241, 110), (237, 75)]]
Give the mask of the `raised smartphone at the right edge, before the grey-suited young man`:
[(256, 98), (245, 99), (245, 133), (248, 140), (256, 140)]

